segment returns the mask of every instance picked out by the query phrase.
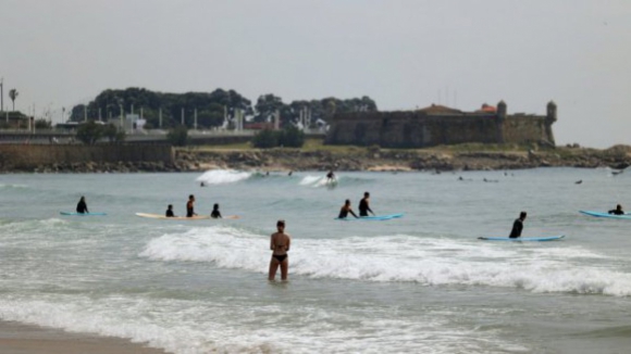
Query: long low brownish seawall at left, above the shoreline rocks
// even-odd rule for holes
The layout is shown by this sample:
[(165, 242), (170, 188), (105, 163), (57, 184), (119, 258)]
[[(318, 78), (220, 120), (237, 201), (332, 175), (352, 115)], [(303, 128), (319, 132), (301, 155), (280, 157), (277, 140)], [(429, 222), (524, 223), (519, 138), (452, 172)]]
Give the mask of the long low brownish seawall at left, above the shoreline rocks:
[(168, 144), (0, 144), (0, 166), (34, 168), (54, 163), (174, 161)]

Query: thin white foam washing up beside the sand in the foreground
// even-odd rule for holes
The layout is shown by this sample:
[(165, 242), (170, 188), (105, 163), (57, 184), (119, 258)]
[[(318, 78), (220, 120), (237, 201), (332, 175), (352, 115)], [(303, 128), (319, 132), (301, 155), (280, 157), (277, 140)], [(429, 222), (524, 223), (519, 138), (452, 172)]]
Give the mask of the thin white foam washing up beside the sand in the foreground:
[(398, 316), (389, 307), (341, 314), (308, 305), (232, 306), (116, 295), (49, 294), (0, 302), (4, 320), (128, 338), (182, 354), (484, 353), (516, 345), (493, 339), (493, 332), (449, 326), (442, 312), (428, 309), (422, 316)]

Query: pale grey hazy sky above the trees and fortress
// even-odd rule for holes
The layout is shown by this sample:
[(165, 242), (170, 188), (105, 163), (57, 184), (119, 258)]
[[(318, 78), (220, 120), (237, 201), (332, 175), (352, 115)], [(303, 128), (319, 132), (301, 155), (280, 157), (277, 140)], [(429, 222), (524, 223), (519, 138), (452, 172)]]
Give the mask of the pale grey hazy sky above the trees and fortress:
[(628, 0), (0, 0), (4, 108), (106, 89), (558, 106), (557, 144), (631, 144)]

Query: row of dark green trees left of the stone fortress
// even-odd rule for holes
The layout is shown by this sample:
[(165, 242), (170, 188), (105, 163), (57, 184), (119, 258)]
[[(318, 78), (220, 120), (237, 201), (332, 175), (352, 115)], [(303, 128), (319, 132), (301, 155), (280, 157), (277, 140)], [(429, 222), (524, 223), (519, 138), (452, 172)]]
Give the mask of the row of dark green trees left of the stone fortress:
[[(194, 115), (197, 110), (198, 128), (213, 128), (224, 124), (224, 116), (228, 124), (234, 124), (237, 111), (253, 123), (273, 122), (275, 114), (280, 114), (281, 127), (295, 125), (301, 115), (309, 115), (311, 124), (331, 122), (337, 113), (374, 112), (376, 103), (364, 96), (352, 99), (324, 98), (320, 100), (297, 100), (290, 103), (283, 102), (281, 97), (272, 93), (260, 96), (256, 103), (235, 90), (215, 89), (212, 92), (163, 93), (144, 88), (127, 88), (124, 90), (108, 89), (99, 93), (88, 104), (75, 105), (70, 121), (83, 122), (88, 119), (106, 121), (109, 117), (120, 117), (121, 113), (139, 114), (147, 121), (146, 128), (157, 128), (160, 125), (162, 112), (162, 127), (171, 128), (181, 125), (182, 110), (184, 110), (184, 125), (194, 126)], [(308, 112), (308, 113), (307, 113)]]

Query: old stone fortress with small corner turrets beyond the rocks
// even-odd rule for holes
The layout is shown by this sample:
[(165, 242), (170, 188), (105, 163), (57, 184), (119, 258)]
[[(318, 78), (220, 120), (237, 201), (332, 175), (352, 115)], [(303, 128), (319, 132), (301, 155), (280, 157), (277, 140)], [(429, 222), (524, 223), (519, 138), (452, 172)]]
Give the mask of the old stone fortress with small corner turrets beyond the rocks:
[(333, 117), (325, 143), (425, 148), (468, 142), (539, 143), (555, 146), (552, 125), (557, 106), (550, 101), (546, 115), (507, 114), (506, 103), (483, 104), (462, 112), (432, 104), (416, 111), (352, 112)]

